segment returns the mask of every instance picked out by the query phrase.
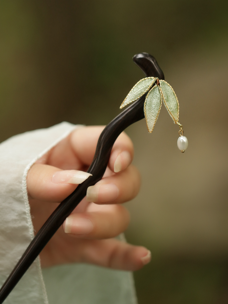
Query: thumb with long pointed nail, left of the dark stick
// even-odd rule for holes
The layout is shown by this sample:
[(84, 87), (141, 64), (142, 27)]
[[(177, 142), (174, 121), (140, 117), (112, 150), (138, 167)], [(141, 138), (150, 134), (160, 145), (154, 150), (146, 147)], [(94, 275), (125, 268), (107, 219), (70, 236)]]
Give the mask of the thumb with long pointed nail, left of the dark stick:
[(32, 199), (61, 202), (90, 175), (83, 171), (63, 171), (45, 164), (34, 164), (27, 175), (28, 195)]

